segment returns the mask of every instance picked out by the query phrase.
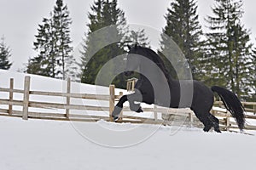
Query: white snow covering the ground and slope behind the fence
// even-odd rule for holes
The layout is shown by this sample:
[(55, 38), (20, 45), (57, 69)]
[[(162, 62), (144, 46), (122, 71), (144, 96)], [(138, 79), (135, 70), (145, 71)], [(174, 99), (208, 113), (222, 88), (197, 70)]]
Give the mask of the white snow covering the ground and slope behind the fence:
[[(0, 71), (1, 88), (9, 86), (10, 77), (15, 78), (15, 88), (23, 88), (23, 74)], [(60, 91), (64, 84), (32, 76), (34, 90)], [(83, 93), (94, 93), (96, 89), (90, 85), (83, 87), (76, 89)], [(108, 88), (101, 88), (104, 89), (108, 93)], [(23, 121), (0, 116), (0, 136), (1, 170), (255, 168), (255, 136), (204, 133), (195, 127)]]

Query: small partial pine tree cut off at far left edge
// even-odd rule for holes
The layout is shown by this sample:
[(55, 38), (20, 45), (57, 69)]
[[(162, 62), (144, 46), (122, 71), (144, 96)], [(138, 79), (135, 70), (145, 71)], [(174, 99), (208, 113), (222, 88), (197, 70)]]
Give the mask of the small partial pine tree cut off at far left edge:
[(6, 46), (4, 37), (2, 37), (0, 42), (0, 69), (9, 70), (12, 65), (9, 61), (10, 56), (10, 49)]

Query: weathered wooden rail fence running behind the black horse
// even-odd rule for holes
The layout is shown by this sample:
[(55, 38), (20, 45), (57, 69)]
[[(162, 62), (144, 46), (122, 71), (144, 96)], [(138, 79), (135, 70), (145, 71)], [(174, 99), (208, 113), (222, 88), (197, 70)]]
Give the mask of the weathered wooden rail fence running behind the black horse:
[[(56, 92), (41, 92), (41, 91), (32, 91), (31, 86), (31, 77), (25, 77), (24, 89), (15, 89), (14, 88), (14, 79), (10, 79), (9, 88), (0, 88), (1, 93), (8, 93), (9, 99), (2, 99), (0, 94), (0, 116), (15, 116), (21, 117), (24, 120), (28, 118), (34, 119), (47, 119), (47, 120), (60, 120), (60, 121), (80, 121), (80, 122), (96, 122), (99, 120), (113, 121), (110, 113), (112, 113), (114, 104), (118, 99), (123, 95), (122, 92), (115, 94), (114, 85), (109, 86), (108, 95), (99, 95), (99, 94), (75, 94), (71, 92), (71, 81), (67, 79), (67, 91), (65, 93), (56, 93)], [(14, 94), (23, 95), (23, 99), (18, 100), (14, 99)], [(31, 99), (32, 96), (52, 96), (52, 97), (61, 97), (66, 100), (65, 103), (57, 102), (41, 102), (34, 101)], [(72, 104), (72, 99), (90, 99), (90, 100), (104, 100), (109, 102), (109, 105), (105, 106), (94, 106), (94, 105), (74, 105)], [(7, 108), (1, 109), (1, 105)], [(222, 130), (238, 129), (236, 122), (230, 117), (230, 113), (226, 111), (221, 102), (215, 102), (215, 106), (218, 106), (218, 109), (212, 108), (212, 114), (217, 116), (220, 122), (220, 127)], [(255, 106), (256, 102), (248, 103), (243, 102), (247, 111), (250, 111), (250, 114), (247, 114), (247, 120), (250, 122), (255, 121)], [(20, 106), (21, 110), (15, 110), (14, 106)], [(249, 106), (249, 107), (247, 107)], [(38, 111), (30, 111), (30, 108), (39, 109)], [(62, 113), (49, 113), (42, 112), (44, 109), (56, 109), (61, 110)], [(82, 114), (73, 114), (74, 110), (84, 111)], [(95, 113), (100, 111), (104, 113), (109, 113), (108, 115), (102, 114), (87, 114), (87, 111), (94, 111)], [(164, 125), (186, 125), (194, 127), (202, 127), (202, 123), (195, 117), (194, 113), (189, 109), (171, 109), (171, 108), (162, 108), (155, 106), (152, 108), (144, 108), (144, 112), (151, 112), (153, 116), (129, 116), (125, 114), (126, 111), (130, 111), (128, 107), (124, 107), (121, 118), (119, 122), (133, 122), (133, 123), (149, 123), (149, 124), (164, 124)], [(131, 111), (130, 111), (131, 112)], [(137, 114), (139, 115), (139, 114)], [(251, 123), (252, 124), (252, 123)], [(245, 127), (247, 130), (256, 130), (256, 126), (246, 124)]]

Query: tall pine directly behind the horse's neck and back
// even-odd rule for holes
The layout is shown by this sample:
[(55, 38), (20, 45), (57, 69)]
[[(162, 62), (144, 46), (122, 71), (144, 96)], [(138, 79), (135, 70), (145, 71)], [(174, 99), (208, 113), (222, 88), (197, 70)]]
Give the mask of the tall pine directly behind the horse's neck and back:
[[(172, 55), (172, 65), (167, 59), (166, 67), (172, 76), (175, 74), (173, 65), (176, 65), (179, 75), (188, 77), (189, 68), (196, 79), (200, 75), (201, 65), (199, 59), (202, 56), (201, 26), (198, 20), (197, 5), (195, 0), (175, 0), (171, 3), (166, 14), (166, 27), (161, 35), (160, 54)], [(176, 42), (177, 46), (184, 54), (185, 60), (180, 57), (182, 54), (176, 49), (175, 44), (170, 38)], [(187, 64), (186, 64), (187, 63)]]

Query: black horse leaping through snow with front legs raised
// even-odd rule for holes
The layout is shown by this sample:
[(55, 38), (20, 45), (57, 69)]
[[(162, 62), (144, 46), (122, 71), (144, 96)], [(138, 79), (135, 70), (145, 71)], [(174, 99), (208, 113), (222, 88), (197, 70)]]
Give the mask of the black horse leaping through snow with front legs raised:
[(238, 127), (241, 130), (244, 128), (244, 108), (236, 94), (218, 86), (207, 88), (202, 82), (195, 80), (175, 80), (166, 71), (160, 56), (150, 48), (135, 45), (129, 47), (129, 50), (125, 75), (129, 76), (132, 71), (137, 71), (140, 77), (135, 85), (135, 93), (122, 96), (114, 107), (112, 116), (115, 121), (119, 118), (123, 104), (128, 100), (131, 111), (136, 112), (143, 112), (138, 102), (170, 108), (188, 107), (204, 124), (205, 132), (214, 127), (214, 130), (220, 133), (218, 118), (210, 113), (214, 100), (213, 92), (216, 92), (226, 109), (235, 117)]

